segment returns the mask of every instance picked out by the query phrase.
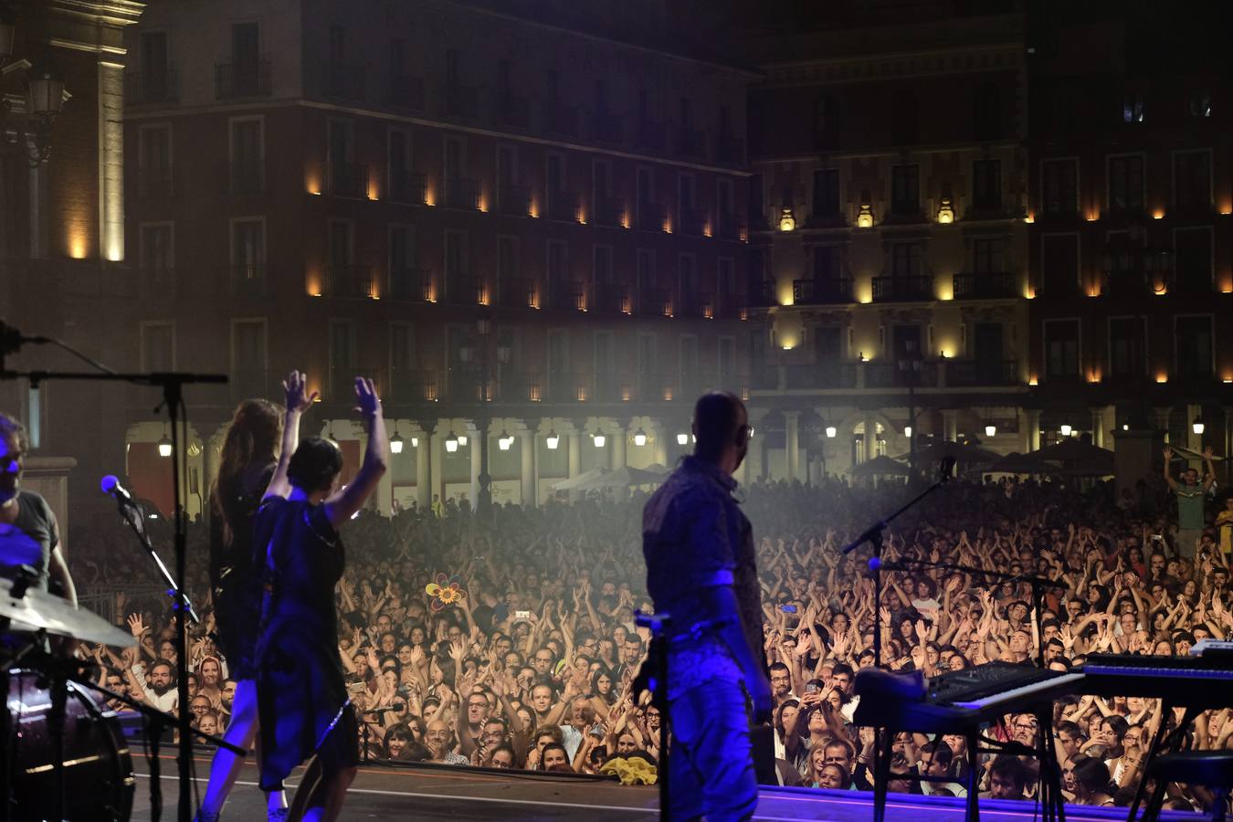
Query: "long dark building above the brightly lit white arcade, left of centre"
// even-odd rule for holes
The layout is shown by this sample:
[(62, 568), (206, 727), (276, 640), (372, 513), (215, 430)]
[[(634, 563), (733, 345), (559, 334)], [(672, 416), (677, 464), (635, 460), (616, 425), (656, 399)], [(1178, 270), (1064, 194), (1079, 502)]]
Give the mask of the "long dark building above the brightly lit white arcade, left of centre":
[[(127, 38), (132, 350), (232, 380), (190, 397), (190, 509), (236, 401), (292, 367), (348, 470), (350, 381), (377, 381), (402, 442), (383, 510), (667, 463), (699, 392), (747, 391), (755, 75), (665, 48), (662, 4), (618, 5), (150, 6)], [(158, 502), (165, 430), (128, 421)]]

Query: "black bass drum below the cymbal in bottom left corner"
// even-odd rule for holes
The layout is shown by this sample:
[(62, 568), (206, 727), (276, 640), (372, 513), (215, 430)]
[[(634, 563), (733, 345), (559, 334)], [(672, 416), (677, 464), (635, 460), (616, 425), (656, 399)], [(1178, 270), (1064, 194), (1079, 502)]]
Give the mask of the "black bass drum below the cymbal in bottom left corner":
[[(55, 743), (47, 680), (33, 670), (9, 672), (9, 751), (15, 821), (55, 813)], [(68, 684), (64, 707), (64, 818), (127, 822), (133, 810), (133, 759), (112, 711), (84, 686)]]

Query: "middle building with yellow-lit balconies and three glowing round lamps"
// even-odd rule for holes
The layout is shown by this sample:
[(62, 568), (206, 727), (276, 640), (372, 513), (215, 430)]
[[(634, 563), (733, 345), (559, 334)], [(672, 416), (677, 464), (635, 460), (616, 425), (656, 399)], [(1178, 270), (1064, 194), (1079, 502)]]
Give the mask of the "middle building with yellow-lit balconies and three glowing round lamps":
[(914, 437), (1037, 442), (1025, 20), (926, 11), (747, 44), (764, 74), (750, 102), (755, 460), (774, 477), (910, 455)]

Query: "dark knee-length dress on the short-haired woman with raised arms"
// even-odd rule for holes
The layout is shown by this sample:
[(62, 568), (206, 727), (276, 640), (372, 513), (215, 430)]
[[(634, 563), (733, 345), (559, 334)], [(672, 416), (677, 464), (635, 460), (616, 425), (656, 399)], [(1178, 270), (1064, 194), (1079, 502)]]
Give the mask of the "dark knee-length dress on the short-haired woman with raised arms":
[(261, 787), (316, 754), (327, 770), (359, 764), (359, 727), (338, 654), (334, 587), (344, 551), (323, 505), (266, 500), (254, 540), (266, 546), (256, 646)]

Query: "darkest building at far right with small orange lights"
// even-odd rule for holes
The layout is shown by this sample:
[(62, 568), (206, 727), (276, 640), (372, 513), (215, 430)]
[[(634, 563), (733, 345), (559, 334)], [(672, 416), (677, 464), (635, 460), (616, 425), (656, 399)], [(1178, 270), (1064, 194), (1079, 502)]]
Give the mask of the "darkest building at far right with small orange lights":
[(1049, 436), (1233, 452), (1228, 23), (1219, 4), (1043, 4), (1033, 23), (1028, 370)]

